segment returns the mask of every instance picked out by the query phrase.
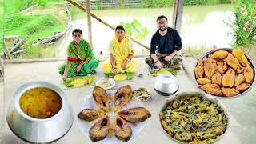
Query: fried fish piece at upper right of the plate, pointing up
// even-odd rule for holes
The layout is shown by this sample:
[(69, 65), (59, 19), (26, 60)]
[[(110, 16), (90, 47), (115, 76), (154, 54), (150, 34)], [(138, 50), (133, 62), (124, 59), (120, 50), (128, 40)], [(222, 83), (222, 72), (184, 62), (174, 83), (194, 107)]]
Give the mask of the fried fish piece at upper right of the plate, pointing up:
[[(124, 98), (124, 101), (116, 105), (118, 99)], [(132, 98), (132, 90), (130, 85), (122, 86), (118, 89), (118, 91), (114, 94), (114, 111), (118, 111), (122, 108), (122, 106), (126, 106), (130, 99)]]

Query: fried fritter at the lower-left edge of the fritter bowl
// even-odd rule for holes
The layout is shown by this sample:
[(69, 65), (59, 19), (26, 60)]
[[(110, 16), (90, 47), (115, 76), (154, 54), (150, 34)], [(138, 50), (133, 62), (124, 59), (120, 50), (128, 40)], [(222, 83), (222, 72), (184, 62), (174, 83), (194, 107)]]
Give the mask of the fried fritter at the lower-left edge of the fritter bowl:
[(222, 90), (217, 84), (199, 85), (199, 88), (206, 91), (208, 94), (214, 94), (217, 96), (222, 95)]

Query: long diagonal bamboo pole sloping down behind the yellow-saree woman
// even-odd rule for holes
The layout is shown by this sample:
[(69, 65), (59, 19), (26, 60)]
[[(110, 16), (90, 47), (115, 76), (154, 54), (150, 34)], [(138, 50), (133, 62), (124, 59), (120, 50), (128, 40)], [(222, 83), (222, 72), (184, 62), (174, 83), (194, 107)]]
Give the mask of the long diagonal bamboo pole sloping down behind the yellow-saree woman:
[[(74, 6), (77, 6), (80, 10), (86, 12), (86, 9), (83, 8), (82, 6), (80, 6), (77, 2), (73, 2), (72, 0), (67, 0), (67, 1), (70, 2), (71, 4), (73, 4)], [(102, 22), (104, 25), (110, 27), (110, 29), (112, 29), (112, 30), (115, 29), (114, 26), (111, 26), (110, 24), (104, 22), (101, 18), (98, 18), (96, 15), (90, 13), (90, 16), (92, 16), (93, 18), (97, 19), (99, 22)], [(130, 38), (132, 41), (138, 43), (138, 45), (143, 46), (144, 48), (150, 50), (150, 47), (149, 47), (149, 46), (146, 46), (146, 45), (142, 44), (141, 42), (138, 42), (136, 39), (131, 38), (130, 35), (127, 35), (127, 34), (126, 34), (126, 37), (128, 37), (128, 38)]]

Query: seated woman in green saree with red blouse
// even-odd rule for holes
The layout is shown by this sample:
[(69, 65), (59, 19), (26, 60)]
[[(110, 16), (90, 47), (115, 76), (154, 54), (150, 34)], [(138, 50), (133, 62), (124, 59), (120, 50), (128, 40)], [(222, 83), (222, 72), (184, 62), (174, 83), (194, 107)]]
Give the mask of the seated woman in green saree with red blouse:
[(67, 60), (58, 68), (64, 82), (66, 78), (73, 78), (78, 74), (95, 73), (99, 63), (94, 57), (90, 43), (82, 39), (82, 30), (73, 30), (72, 36), (73, 41), (66, 51)]

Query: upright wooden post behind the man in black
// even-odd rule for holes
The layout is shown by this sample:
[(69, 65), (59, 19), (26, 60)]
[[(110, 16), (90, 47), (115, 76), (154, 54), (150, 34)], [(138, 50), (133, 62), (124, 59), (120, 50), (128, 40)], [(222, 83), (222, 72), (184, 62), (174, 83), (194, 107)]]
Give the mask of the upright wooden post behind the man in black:
[(182, 14), (184, 0), (174, 0), (173, 24), (174, 29), (181, 33), (182, 30)]

